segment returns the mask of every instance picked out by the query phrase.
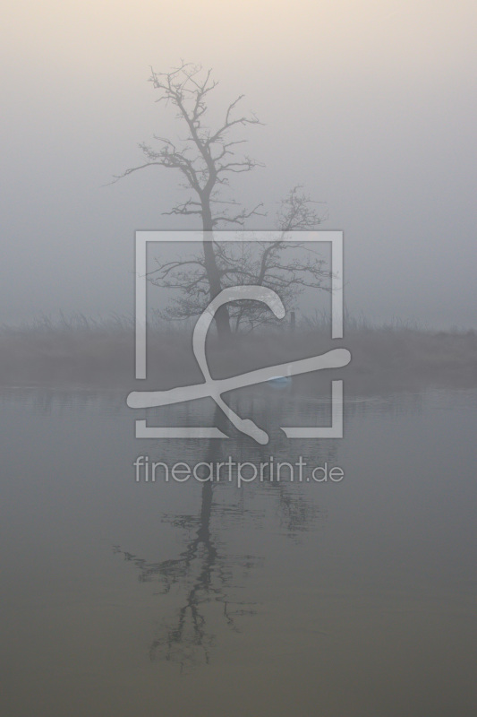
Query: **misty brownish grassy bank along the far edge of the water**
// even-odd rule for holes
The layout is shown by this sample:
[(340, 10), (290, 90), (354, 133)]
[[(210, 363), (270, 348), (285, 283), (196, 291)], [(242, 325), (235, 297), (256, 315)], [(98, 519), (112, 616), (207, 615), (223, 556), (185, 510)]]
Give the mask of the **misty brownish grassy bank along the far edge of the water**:
[[(343, 341), (331, 341), (324, 318), (288, 327), (240, 334), (229, 345), (208, 340), (212, 376), (233, 376), (252, 368), (318, 355), (336, 346), (352, 352), (340, 369), (347, 391), (380, 392), (397, 387), (477, 385), (477, 333), (437, 332), (408, 324), (376, 326), (348, 319)], [(168, 388), (200, 382), (190, 327), (152, 322), (148, 335), (147, 382)], [(336, 372), (335, 372), (336, 373)], [(331, 372), (294, 378), (294, 385), (329, 381)], [(134, 384), (134, 327), (127, 318), (94, 321), (77, 315), (45, 318), (0, 328), (0, 384), (117, 387)]]

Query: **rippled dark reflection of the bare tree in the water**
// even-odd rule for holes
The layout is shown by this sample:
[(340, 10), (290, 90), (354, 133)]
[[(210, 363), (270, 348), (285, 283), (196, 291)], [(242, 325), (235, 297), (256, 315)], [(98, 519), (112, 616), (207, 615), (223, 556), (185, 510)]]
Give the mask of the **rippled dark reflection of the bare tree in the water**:
[[(214, 423), (224, 431), (225, 420), (225, 416), (217, 409)], [(280, 443), (277, 443), (277, 450), (285, 451), (286, 448)], [(256, 445), (251, 448), (248, 441), (247, 444), (242, 446), (243, 451), (247, 452), (247, 458), (243, 457), (243, 461), (268, 461), (269, 446)], [(287, 447), (289, 449), (289, 445)], [(224, 460), (223, 456), (217, 454), (217, 442), (209, 441), (203, 460)], [(240, 456), (238, 460), (241, 460)], [(218, 495), (225, 495), (230, 486), (225, 482), (203, 482), (198, 514), (163, 517), (163, 521), (182, 529), (187, 536), (178, 557), (151, 563), (115, 547), (116, 553), (123, 555), (125, 560), (137, 568), (141, 582), (158, 580), (160, 594), (169, 593), (174, 587), (182, 596), (178, 599), (174, 614), (163, 620), (158, 635), (150, 644), (149, 656), (152, 661), (175, 661), (181, 669), (209, 663), (216, 635), (214, 626), (218, 630), (220, 621), (223, 621), (232, 631), (240, 632), (241, 618), (257, 613), (258, 603), (238, 599), (237, 593), (243, 592), (251, 569), (260, 565), (261, 558), (248, 553), (231, 555), (227, 552), (225, 541), (221, 540), (221, 532), (230, 526), (234, 517), (240, 517), (242, 523), (257, 523), (259, 520), (262, 523), (264, 511), (245, 507), (243, 489), (239, 491), (240, 497), (235, 505), (229, 499), (224, 504), (220, 503)], [(319, 517), (319, 507), (302, 495), (302, 486), (297, 483), (291, 483), (285, 478), (280, 482), (264, 481), (245, 486), (246, 490), (257, 488), (266, 492), (267, 505), (273, 503), (277, 506), (282, 531), (292, 539), (296, 539), (301, 531), (307, 530)], [(273, 501), (269, 499), (270, 494), (274, 497)], [(217, 606), (220, 608), (218, 613)]]

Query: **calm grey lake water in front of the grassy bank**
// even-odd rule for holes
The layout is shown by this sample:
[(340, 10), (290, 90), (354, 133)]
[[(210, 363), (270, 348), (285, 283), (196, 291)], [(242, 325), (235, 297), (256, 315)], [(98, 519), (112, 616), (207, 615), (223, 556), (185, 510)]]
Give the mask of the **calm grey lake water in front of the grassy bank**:
[[(234, 408), (268, 445), (139, 441), (120, 393), (3, 391), (0, 713), (474, 716), (477, 392), (348, 399), (328, 441), (279, 429), (326, 424), (326, 401)], [(186, 418), (222, 421), (149, 412)], [(141, 455), (344, 478), (136, 482)]]

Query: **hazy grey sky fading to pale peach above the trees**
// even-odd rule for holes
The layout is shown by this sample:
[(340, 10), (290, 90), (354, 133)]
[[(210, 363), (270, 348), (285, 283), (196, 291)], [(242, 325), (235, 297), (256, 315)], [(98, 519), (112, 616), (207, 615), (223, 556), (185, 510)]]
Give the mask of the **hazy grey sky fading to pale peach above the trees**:
[(134, 230), (191, 225), (161, 214), (173, 172), (105, 185), (175, 133), (147, 80), (183, 58), (265, 123), (234, 191), (257, 226), (296, 184), (328, 203), (351, 314), (477, 327), (476, 22), (472, 0), (5, 4), (0, 321), (132, 314)]

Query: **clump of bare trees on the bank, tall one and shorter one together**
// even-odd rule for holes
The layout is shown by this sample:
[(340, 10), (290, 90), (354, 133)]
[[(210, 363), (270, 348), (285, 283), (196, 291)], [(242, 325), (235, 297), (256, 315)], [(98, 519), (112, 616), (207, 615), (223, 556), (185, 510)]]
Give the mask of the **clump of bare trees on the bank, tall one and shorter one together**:
[[(212, 298), (226, 286), (256, 283), (278, 290), (286, 304), (291, 304), (297, 293), (305, 286), (328, 288), (328, 278), (319, 257), (294, 259), (285, 262), (283, 255), (290, 248), (286, 233), (296, 229), (315, 229), (321, 218), (310, 198), (301, 187), (294, 187), (281, 203), (277, 216), (277, 239), (260, 243), (251, 249), (221, 246), (214, 237), (214, 229), (235, 227), (243, 229), (246, 220), (260, 214), (262, 203), (252, 209), (240, 203), (226, 200), (222, 194), (229, 186), (231, 175), (249, 172), (260, 165), (247, 155), (237, 154), (237, 146), (246, 142), (234, 138), (234, 131), (246, 125), (259, 125), (255, 115), (237, 113), (243, 95), (234, 99), (226, 108), (225, 115), (216, 128), (208, 121), (209, 94), (217, 87), (211, 71), (205, 72), (200, 65), (183, 63), (169, 73), (157, 73), (151, 68), (151, 77), (158, 102), (172, 105), (176, 117), (186, 130), (183, 140), (154, 135), (158, 148), (141, 143), (146, 161), (137, 167), (126, 169), (115, 181), (132, 172), (151, 166), (178, 170), (183, 177), (182, 186), (190, 195), (176, 203), (165, 214), (200, 217), (203, 241), (200, 255), (159, 264), (149, 274), (149, 280), (168, 289), (180, 289), (181, 294), (166, 312), (168, 318), (185, 318), (200, 314)], [(296, 243), (294, 243), (296, 248)], [(231, 317), (234, 328), (247, 324), (253, 328), (267, 320), (266, 310), (242, 302), (242, 306), (220, 307), (216, 315), (217, 332), (224, 338), (231, 333)]]

